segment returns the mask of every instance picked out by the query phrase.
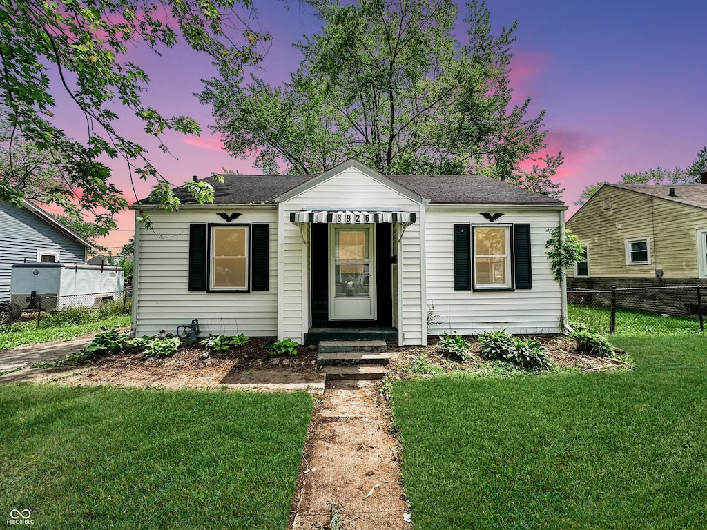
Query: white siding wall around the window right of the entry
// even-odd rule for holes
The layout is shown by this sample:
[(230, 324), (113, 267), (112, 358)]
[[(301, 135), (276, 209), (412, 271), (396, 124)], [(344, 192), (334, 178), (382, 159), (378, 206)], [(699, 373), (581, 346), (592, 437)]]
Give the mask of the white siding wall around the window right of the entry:
[[(435, 324), (429, 334), (444, 331), (479, 334), (506, 329), (510, 334), (560, 333), (562, 295), (545, 256), (549, 229), (557, 226), (558, 211), (501, 208), (506, 223), (530, 223), (532, 289), (454, 289), (454, 225), (483, 222), (487, 207), (428, 206), (426, 212), (427, 305), (434, 306)], [(493, 226), (490, 225), (489, 226)]]

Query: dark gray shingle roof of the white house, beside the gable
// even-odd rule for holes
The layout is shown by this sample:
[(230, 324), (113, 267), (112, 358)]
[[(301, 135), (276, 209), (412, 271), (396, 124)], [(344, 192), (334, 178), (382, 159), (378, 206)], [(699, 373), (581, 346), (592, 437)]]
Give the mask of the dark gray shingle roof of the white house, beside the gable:
[[(317, 175), (224, 175), (224, 182), (206, 177), (214, 186), (214, 204), (267, 204)], [(481, 175), (392, 175), (390, 178), (436, 204), (545, 204), (562, 201)], [(182, 187), (175, 189), (182, 204), (197, 204)], [(155, 204), (154, 201), (142, 201)]]

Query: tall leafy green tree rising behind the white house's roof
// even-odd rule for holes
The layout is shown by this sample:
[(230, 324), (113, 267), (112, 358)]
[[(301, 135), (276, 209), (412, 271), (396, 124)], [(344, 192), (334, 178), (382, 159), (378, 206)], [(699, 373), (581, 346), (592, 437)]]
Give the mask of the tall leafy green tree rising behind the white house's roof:
[[(288, 83), (221, 76), (199, 95), (231, 155), (257, 151), (255, 167), (268, 173), (355, 158), (387, 175), (479, 172), (559, 193), (551, 177), (561, 154), (535, 154), (546, 146), (544, 114), (510, 103), (515, 24), (494, 35), (473, 1), (465, 43), (452, 34), (450, 0), (308, 3), (324, 25), (296, 45), (304, 59)], [(533, 169), (521, 170), (530, 158)]]

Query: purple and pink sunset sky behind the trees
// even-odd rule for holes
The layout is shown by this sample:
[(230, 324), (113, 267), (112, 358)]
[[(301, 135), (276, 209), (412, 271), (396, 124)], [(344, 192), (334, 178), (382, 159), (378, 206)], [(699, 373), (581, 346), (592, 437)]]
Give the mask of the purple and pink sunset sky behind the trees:
[[(259, 25), (274, 37), (259, 75), (279, 83), (300, 61), (292, 43), (314, 33), (320, 23), (296, 3), (287, 8), (281, 1), (256, 0), (255, 5)], [(517, 102), (531, 98), (532, 116), (547, 112), (547, 151), (562, 151), (566, 160), (556, 181), (566, 190), (567, 217), (588, 184), (617, 182), (625, 172), (659, 165), (684, 167), (707, 144), (707, 2), (487, 0), (486, 7), (496, 32), (518, 19), (514, 96)], [(201, 90), (201, 79), (214, 74), (208, 57), (184, 46), (165, 50), (162, 57), (141, 48), (130, 54), (151, 76), (145, 101), (165, 115), (187, 114), (202, 127), (199, 137), (166, 135), (172, 156), (163, 155), (141, 133), (141, 124), (123, 114), (123, 132), (150, 148), (153, 163), (170, 182), (179, 185), (222, 167), (255, 172), (250, 163), (221, 149), (220, 138), (208, 129), (211, 108), (193, 95)], [(80, 126), (72, 125), (77, 114), (66, 108), (57, 116), (81, 139)], [(116, 184), (134, 202), (126, 167), (112, 167)], [(136, 192), (144, 198), (149, 184), (139, 182)], [(134, 213), (124, 213), (119, 230), (100, 243), (119, 252), (133, 230)]]

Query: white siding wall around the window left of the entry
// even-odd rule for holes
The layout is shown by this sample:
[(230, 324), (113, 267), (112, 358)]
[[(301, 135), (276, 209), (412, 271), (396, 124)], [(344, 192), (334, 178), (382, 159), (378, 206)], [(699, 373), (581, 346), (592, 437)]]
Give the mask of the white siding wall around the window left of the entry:
[(134, 320), (136, 334), (153, 335), (199, 319), (200, 335), (275, 336), (277, 271), (276, 210), (234, 206), (239, 224), (269, 225), (269, 290), (252, 293), (188, 290), (189, 224), (223, 223), (214, 208), (150, 211), (151, 230), (136, 223)]

